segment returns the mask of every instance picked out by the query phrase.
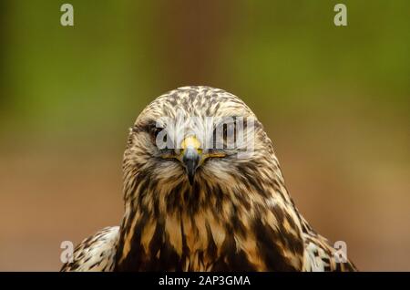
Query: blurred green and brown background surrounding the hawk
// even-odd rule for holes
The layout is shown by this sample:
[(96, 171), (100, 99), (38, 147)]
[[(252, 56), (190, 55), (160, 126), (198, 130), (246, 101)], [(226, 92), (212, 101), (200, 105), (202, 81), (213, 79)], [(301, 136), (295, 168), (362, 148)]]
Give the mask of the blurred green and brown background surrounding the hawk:
[(56, 271), (62, 241), (118, 224), (128, 127), (185, 85), (250, 105), (361, 270), (410, 270), (409, 1), (65, 2), (0, 2), (0, 270)]

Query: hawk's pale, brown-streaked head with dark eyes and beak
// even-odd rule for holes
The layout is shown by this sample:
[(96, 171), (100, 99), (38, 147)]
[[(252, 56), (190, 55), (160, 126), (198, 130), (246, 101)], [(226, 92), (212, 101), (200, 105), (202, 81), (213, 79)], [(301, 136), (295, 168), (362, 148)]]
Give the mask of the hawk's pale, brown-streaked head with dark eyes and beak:
[(179, 88), (150, 103), (130, 130), (126, 197), (143, 189), (165, 200), (164, 207), (180, 205), (178, 196), (205, 201), (246, 183), (249, 171), (271, 154), (271, 141), (240, 98), (215, 88)]

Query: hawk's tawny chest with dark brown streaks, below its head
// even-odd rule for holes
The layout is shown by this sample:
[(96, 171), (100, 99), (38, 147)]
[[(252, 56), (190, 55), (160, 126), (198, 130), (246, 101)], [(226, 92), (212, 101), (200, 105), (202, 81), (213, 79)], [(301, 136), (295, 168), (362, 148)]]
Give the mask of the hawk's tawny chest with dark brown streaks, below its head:
[[(230, 223), (228, 223), (229, 221)], [(272, 227), (247, 229), (249, 223), (201, 212), (198, 215), (169, 215), (163, 220), (144, 220), (126, 236), (117, 256), (123, 271), (292, 271)], [(233, 226), (235, 225), (235, 226)], [(139, 227), (140, 226), (140, 227)], [(128, 243), (129, 241), (129, 243)], [(298, 263), (299, 264), (299, 263)]]

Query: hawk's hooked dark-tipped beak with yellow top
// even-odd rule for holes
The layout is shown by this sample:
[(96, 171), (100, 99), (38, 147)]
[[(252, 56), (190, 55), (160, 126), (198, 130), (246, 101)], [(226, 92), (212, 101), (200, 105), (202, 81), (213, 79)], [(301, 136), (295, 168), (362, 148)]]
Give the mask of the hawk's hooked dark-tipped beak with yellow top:
[(182, 141), (181, 147), (182, 163), (185, 165), (188, 180), (190, 181), (190, 185), (192, 185), (195, 177), (195, 171), (197, 171), (200, 164), (200, 141), (195, 137), (187, 137)]

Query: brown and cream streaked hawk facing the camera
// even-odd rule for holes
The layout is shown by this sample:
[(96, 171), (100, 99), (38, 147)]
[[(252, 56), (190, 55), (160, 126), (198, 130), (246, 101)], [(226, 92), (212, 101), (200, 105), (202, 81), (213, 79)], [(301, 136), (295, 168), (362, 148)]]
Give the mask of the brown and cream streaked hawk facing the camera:
[(219, 88), (177, 88), (140, 113), (123, 194), (120, 226), (80, 243), (61, 271), (356, 270), (295, 207), (261, 122)]

